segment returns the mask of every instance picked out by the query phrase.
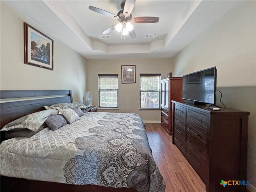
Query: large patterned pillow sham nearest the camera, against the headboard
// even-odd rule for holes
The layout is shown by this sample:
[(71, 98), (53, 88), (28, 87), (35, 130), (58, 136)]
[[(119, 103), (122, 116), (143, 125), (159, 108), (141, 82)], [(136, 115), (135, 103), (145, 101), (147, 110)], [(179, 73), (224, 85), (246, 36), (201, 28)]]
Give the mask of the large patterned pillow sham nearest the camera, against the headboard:
[(58, 114), (58, 110), (50, 109), (35, 112), (24, 117), (18, 118), (10, 123), (8, 123), (3, 131), (13, 130), (15, 128), (26, 128), (32, 131), (37, 131), (40, 126), (44, 123), (44, 121), (51, 115)]

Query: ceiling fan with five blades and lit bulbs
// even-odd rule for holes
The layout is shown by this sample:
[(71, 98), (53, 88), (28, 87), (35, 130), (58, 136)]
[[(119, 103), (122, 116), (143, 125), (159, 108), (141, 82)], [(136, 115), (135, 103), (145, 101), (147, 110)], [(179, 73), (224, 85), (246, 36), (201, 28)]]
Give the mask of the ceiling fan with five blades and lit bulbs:
[(116, 15), (93, 6), (89, 6), (89, 9), (119, 21), (119, 23), (107, 28), (104, 32), (102, 32), (102, 34), (108, 34), (112, 30), (116, 29), (118, 32), (121, 32), (121, 38), (124, 37), (125, 39), (125, 35), (129, 34), (134, 39), (137, 36), (133, 30), (132, 23), (157, 23), (159, 21), (159, 17), (132, 17), (131, 12), (134, 8), (135, 1), (136, 0), (123, 1), (121, 3), (122, 10), (120, 10)]

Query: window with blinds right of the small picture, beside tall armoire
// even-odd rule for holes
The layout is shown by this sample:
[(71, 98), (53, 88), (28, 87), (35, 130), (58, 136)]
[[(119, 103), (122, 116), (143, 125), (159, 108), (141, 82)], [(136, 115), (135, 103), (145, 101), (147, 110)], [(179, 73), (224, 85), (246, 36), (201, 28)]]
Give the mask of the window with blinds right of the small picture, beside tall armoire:
[(160, 108), (161, 74), (140, 74), (140, 108)]

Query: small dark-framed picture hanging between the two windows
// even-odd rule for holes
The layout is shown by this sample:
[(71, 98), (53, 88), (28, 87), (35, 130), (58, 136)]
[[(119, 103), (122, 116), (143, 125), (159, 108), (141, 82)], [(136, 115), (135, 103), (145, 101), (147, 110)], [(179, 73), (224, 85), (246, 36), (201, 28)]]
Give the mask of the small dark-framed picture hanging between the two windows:
[(136, 83), (135, 65), (122, 65), (122, 83)]

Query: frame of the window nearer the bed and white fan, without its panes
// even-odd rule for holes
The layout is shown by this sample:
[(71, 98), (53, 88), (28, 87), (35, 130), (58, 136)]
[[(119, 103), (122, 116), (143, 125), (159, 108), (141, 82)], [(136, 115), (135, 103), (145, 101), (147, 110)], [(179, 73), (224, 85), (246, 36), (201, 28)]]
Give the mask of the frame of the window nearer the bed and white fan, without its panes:
[[(100, 90), (100, 77), (101, 76), (115, 76), (117, 78), (117, 90), (114, 89), (102, 89)], [(100, 92), (117, 92), (117, 107), (112, 107), (112, 106), (100, 106)], [(118, 74), (98, 74), (98, 109), (118, 109), (119, 108), (119, 79), (118, 79)]]

